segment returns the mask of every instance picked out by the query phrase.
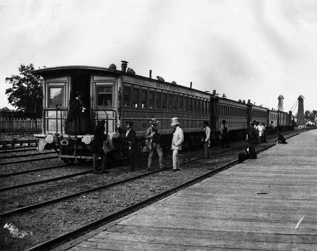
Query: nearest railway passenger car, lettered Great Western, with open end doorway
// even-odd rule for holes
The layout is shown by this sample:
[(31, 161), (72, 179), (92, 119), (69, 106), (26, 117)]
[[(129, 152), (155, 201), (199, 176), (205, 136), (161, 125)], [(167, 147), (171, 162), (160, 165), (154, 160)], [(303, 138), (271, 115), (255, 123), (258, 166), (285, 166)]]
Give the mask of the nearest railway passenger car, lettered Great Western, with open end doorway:
[[(97, 119), (106, 120), (109, 157), (119, 159), (122, 138), (115, 127), (119, 122), (133, 121), (138, 137), (138, 149), (145, 145), (144, 135), (150, 118), (159, 122), (162, 147), (171, 144), (172, 117), (178, 117), (184, 131), (184, 145), (191, 148), (200, 143), (204, 120), (210, 120), (210, 94), (189, 87), (167, 83), (161, 77), (152, 79), (139, 76), (126, 61), (121, 70), (112, 64), (109, 68), (91, 66), (61, 66), (34, 70), (43, 77), (43, 130), (36, 134), (39, 150), (55, 149), (65, 163), (75, 159), (84, 162), (92, 158), (90, 144), (93, 130), (86, 135), (65, 133), (65, 120), (74, 93), (84, 93), (82, 100), (89, 110), (89, 118), (95, 126)], [(215, 108), (213, 108), (215, 109)]]

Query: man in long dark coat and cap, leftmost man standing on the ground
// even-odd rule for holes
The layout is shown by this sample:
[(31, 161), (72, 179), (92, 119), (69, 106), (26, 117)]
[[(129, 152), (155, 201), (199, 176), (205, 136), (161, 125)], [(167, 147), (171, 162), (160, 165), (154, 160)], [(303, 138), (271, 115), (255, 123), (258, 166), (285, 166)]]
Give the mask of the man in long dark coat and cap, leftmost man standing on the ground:
[[(93, 153), (94, 174), (109, 173), (106, 170), (107, 155), (103, 149), (104, 141), (107, 141), (108, 139), (108, 135), (105, 135), (105, 120), (98, 119), (97, 123), (98, 125), (95, 128), (94, 139), (90, 148), (90, 151)], [(97, 168), (97, 160), (99, 155), (101, 156), (101, 173)]]

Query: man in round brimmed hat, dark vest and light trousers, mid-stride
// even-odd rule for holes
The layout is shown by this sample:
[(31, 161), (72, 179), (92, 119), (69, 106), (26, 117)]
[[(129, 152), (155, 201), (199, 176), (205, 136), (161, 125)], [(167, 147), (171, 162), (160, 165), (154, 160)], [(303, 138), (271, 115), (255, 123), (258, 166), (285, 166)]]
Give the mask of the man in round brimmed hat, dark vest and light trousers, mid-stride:
[(151, 163), (152, 163), (152, 158), (153, 158), (153, 153), (156, 150), (156, 152), (159, 155), (159, 166), (160, 168), (164, 168), (164, 162), (163, 162), (163, 153), (161, 146), (159, 144), (159, 131), (157, 129), (158, 126), (158, 121), (156, 118), (152, 118), (150, 121), (151, 126), (146, 130), (146, 135), (145, 138), (148, 140), (148, 145), (150, 145), (150, 153), (149, 153), (149, 159), (147, 163), (147, 170), (151, 171)]

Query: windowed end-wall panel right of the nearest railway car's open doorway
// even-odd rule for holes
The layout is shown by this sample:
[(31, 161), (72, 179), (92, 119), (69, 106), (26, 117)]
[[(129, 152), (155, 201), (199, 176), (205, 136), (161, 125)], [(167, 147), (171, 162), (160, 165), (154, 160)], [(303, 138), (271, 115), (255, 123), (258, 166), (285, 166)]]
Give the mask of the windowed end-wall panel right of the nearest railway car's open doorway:
[(106, 129), (108, 133), (114, 132), (115, 126), (115, 82), (93, 82), (93, 128), (97, 119), (107, 121)]

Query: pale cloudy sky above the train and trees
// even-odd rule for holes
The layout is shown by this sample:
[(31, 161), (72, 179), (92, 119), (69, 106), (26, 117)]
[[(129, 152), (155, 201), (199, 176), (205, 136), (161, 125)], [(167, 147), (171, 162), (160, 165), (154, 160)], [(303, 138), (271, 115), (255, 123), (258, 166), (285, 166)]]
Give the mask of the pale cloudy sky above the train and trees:
[[(317, 110), (315, 0), (0, 0), (0, 108), (20, 64), (121, 69), (284, 111)], [(297, 108), (294, 113), (297, 112)]]

